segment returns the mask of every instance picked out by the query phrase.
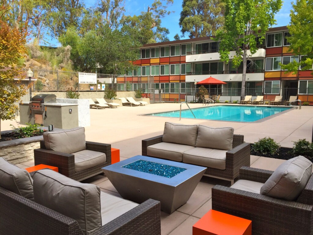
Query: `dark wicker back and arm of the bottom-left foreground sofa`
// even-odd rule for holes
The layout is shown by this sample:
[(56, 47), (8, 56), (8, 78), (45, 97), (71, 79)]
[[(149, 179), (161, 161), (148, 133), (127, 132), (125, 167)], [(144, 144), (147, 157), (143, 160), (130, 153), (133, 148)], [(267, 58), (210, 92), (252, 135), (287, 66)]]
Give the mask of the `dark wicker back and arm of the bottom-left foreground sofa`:
[[(149, 199), (90, 235), (160, 235), (160, 202)], [(78, 222), (0, 187), (0, 234), (84, 235)]]

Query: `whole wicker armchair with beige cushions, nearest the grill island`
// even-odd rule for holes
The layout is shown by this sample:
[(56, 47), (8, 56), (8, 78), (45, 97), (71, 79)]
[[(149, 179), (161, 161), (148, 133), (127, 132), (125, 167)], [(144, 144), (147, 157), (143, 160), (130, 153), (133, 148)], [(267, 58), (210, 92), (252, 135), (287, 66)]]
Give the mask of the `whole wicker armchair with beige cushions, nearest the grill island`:
[(81, 181), (111, 165), (111, 145), (86, 141), (83, 127), (45, 132), (34, 160), (35, 165), (56, 166), (62, 175)]

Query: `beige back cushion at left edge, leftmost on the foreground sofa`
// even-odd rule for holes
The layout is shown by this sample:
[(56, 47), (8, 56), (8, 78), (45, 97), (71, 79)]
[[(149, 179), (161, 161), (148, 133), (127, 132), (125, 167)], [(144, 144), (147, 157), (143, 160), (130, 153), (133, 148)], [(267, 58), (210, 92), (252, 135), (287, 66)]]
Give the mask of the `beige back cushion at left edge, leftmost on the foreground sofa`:
[(0, 186), (29, 200), (34, 200), (33, 179), (27, 170), (23, 170), (1, 157)]

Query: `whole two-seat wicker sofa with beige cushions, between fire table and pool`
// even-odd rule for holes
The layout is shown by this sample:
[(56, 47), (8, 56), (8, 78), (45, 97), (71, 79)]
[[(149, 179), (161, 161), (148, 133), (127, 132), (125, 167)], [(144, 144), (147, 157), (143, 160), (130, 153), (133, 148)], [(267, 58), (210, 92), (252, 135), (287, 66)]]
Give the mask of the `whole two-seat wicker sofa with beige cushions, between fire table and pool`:
[(142, 155), (204, 166), (204, 175), (232, 185), (240, 167), (250, 166), (250, 144), (233, 128), (165, 123), (163, 135), (142, 140)]

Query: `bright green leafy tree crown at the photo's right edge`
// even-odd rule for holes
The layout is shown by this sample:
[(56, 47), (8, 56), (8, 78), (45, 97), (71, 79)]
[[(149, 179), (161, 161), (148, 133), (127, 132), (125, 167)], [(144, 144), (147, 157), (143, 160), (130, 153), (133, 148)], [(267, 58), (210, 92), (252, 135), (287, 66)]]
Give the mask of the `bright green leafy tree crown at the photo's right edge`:
[(296, 55), (302, 56), (300, 62), (295, 60), (288, 65), (282, 65), (281, 67), (286, 72), (296, 73), (301, 66), (301, 70), (309, 70), (312, 68), (313, 63), (313, 1), (312, 0), (297, 0), (292, 4), (292, 10), (290, 11), (290, 25), (289, 29), (290, 37), (287, 37), (287, 41), (290, 43), (289, 51)]

